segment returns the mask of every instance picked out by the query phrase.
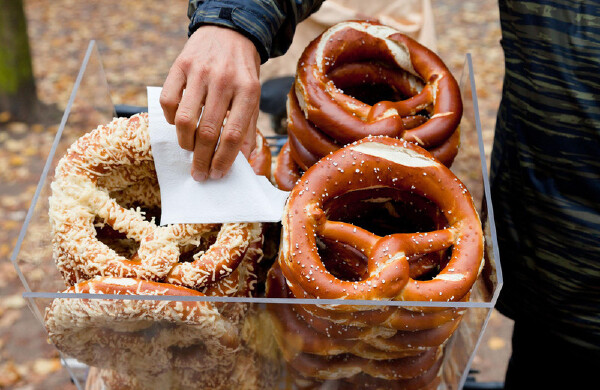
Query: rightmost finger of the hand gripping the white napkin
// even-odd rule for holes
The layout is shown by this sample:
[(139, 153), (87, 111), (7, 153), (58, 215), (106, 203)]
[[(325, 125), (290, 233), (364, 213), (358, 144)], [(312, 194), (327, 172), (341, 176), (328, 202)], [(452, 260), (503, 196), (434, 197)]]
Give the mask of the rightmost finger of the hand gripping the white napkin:
[(258, 82), (245, 81), (236, 90), (236, 95), (231, 102), (231, 111), (225, 126), (219, 146), (212, 158), (210, 178), (220, 179), (229, 170), (247, 133), (256, 134), (256, 121), (252, 124), (258, 106), (260, 85)]

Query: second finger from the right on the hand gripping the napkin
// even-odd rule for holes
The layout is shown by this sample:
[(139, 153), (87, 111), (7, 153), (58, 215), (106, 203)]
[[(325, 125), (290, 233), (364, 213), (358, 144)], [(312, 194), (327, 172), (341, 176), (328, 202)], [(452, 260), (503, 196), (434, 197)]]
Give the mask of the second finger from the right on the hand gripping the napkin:
[[(209, 177), (211, 161), (213, 160), (213, 154), (215, 154), (219, 136), (221, 136), (223, 119), (229, 108), (232, 94), (233, 92), (230, 89), (224, 88), (222, 85), (211, 85), (209, 88), (194, 143), (192, 177), (196, 181), (203, 181)], [(223, 174), (218, 178), (222, 176)]]

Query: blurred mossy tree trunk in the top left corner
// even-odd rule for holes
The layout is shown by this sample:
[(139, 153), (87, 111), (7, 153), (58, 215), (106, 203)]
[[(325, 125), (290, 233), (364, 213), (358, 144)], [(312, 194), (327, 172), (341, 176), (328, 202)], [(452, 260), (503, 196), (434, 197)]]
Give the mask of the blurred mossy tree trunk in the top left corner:
[(0, 112), (31, 120), (39, 104), (22, 0), (0, 0)]

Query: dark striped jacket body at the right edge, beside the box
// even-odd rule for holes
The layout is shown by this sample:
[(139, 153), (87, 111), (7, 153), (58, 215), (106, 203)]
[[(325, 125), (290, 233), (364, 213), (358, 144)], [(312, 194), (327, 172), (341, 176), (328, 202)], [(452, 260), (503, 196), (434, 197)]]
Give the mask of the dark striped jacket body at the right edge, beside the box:
[(498, 309), (600, 356), (600, 1), (499, 3)]

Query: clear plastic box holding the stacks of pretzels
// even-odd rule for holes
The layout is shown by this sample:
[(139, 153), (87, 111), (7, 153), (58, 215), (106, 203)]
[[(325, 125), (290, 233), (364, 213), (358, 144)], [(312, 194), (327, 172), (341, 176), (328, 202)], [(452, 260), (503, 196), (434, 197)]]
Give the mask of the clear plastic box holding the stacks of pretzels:
[[(100, 55), (90, 42), (12, 256), (27, 291), (24, 297), (40, 324), (52, 327), (50, 340), (77, 387), (461, 388), (502, 274), (469, 54), (459, 84), (461, 146), (451, 169), (471, 192), (485, 233), (485, 265), (468, 301), (315, 300), (264, 293), (251, 298), (67, 294), (61, 292), (65, 282), (54, 265), (48, 219), (54, 169), (72, 142), (116, 115)], [(281, 145), (275, 138), (274, 150)], [(322, 317), (315, 313), (349, 305), (363, 314), (404, 316), (407, 324), (419, 317), (433, 318), (431, 323), (444, 315), (453, 318), (422, 330), (406, 325), (408, 330), (394, 334), (350, 320), (319, 324)], [(172, 316), (161, 314), (171, 310)], [(181, 316), (186, 310), (203, 316), (190, 320)], [(119, 317), (115, 312), (133, 314)], [(62, 322), (52, 325), (57, 318)], [(383, 336), (360, 337), (377, 332)]]

